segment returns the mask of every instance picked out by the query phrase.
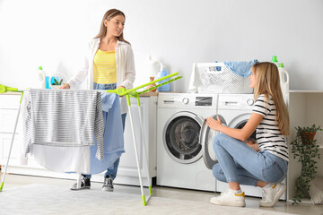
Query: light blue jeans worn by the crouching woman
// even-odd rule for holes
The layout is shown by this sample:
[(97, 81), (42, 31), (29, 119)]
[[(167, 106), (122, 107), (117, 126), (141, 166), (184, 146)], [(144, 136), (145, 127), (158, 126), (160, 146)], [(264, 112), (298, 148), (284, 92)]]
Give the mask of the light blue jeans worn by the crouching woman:
[(215, 178), (240, 185), (257, 185), (259, 180), (279, 183), (287, 174), (288, 161), (268, 151), (256, 151), (246, 143), (220, 133), (214, 137), (214, 152), (219, 161), (212, 168)]

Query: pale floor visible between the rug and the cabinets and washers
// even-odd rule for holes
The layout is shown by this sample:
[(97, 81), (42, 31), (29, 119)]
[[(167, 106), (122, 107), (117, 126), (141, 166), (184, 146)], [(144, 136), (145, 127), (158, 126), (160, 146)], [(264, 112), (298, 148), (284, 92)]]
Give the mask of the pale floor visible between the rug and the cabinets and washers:
[[(44, 184), (44, 185), (62, 185), (70, 186), (74, 183), (73, 180), (57, 179), (49, 177), (38, 176), (20, 176), (20, 175), (7, 175), (5, 177), (4, 189), (9, 187), (16, 187), (20, 185), (29, 184)], [(101, 183), (92, 183), (93, 189), (100, 189)], [(82, 192), (82, 191), (80, 191)], [(115, 185), (115, 192), (118, 193), (137, 193), (140, 194), (140, 188), (138, 186), (128, 185)], [(186, 189), (177, 189), (162, 186), (153, 186), (153, 195), (171, 199), (189, 200), (196, 202), (209, 202), (210, 198), (219, 193), (192, 191)], [(247, 197), (247, 208), (259, 208), (259, 198)], [(304, 215), (323, 215), (323, 205), (312, 204), (300, 204), (292, 205), (292, 202), (279, 201), (275, 208), (261, 208), (266, 211), (280, 211), (294, 214)]]

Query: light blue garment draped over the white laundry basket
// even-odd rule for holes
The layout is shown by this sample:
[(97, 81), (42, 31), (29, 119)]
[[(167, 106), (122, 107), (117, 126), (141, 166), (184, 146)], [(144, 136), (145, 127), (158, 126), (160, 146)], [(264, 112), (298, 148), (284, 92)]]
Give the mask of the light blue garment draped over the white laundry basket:
[(223, 64), (227, 66), (232, 73), (236, 73), (242, 77), (249, 77), (251, 74), (251, 67), (253, 64), (258, 63), (258, 60), (251, 61), (223, 61)]

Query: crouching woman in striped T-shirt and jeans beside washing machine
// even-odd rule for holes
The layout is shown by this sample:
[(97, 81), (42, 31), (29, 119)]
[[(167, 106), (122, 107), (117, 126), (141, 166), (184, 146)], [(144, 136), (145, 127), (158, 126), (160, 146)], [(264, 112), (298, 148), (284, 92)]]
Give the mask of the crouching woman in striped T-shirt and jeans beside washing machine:
[[(230, 187), (210, 202), (244, 207), (245, 195), (240, 185), (254, 185), (263, 188), (260, 206), (274, 207), (286, 189), (280, 182), (284, 180), (288, 166), (289, 116), (275, 64), (254, 64), (249, 80), (256, 101), (242, 129), (222, 125), (219, 117), (206, 119), (211, 129), (221, 132), (213, 142), (219, 161), (214, 165), (214, 176)], [(246, 142), (255, 130), (257, 142)]]

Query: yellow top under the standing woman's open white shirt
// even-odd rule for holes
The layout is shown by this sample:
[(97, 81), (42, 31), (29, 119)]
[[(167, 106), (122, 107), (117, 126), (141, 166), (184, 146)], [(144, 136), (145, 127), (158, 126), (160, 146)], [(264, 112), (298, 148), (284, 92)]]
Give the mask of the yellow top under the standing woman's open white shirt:
[(93, 61), (93, 82), (100, 84), (117, 82), (115, 51), (97, 50)]

